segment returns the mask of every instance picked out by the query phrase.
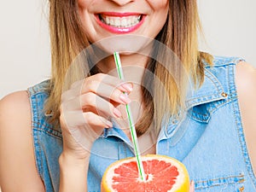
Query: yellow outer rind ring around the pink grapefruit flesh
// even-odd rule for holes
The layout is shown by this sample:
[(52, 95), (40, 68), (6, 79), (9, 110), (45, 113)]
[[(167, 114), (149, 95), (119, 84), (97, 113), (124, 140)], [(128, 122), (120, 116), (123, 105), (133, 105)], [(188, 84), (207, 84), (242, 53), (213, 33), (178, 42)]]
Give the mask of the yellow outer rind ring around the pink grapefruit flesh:
[[(189, 192), (189, 173), (188, 173), (186, 167), (183, 165), (183, 163), (181, 163), (179, 160), (176, 160), (172, 157), (168, 157), (166, 155), (160, 155), (160, 154), (147, 154), (144, 157), (153, 157), (154, 159), (164, 159), (164, 160), (176, 162), (182, 168), (182, 170), (179, 170), (179, 171), (183, 172), (184, 177), (183, 177), (183, 183), (180, 185), (180, 187), (177, 190), (175, 190), (175, 192)], [(113, 190), (111, 190), (108, 187), (108, 181), (107, 181), (108, 180), (107, 179), (108, 171), (113, 166), (116, 166), (118, 164), (121, 165), (123, 161), (133, 160), (133, 159), (136, 160), (135, 157), (129, 157), (129, 158), (125, 158), (123, 160), (117, 160), (113, 164), (108, 166), (108, 168), (106, 169), (106, 171), (104, 172), (104, 175), (102, 177), (102, 189), (101, 189), (102, 192), (114, 192)], [(169, 191), (172, 191), (172, 189)]]

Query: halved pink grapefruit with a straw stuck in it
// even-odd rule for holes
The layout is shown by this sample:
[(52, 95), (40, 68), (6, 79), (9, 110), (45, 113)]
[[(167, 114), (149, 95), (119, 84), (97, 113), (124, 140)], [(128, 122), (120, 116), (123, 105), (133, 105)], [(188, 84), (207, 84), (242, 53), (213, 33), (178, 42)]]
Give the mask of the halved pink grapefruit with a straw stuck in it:
[(102, 192), (189, 192), (189, 173), (178, 160), (164, 155), (142, 156), (146, 181), (142, 181), (135, 157), (108, 166)]

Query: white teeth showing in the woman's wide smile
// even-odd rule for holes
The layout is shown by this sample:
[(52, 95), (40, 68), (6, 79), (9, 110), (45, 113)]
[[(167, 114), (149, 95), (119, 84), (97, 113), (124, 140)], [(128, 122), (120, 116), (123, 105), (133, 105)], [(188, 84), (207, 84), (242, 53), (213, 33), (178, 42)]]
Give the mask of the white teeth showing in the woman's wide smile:
[(102, 22), (104, 22), (109, 26), (130, 27), (130, 26), (136, 26), (140, 22), (141, 15), (127, 16), (127, 17), (113, 17), (113, 16), (100, 15), (100, 19), (102, 20)]

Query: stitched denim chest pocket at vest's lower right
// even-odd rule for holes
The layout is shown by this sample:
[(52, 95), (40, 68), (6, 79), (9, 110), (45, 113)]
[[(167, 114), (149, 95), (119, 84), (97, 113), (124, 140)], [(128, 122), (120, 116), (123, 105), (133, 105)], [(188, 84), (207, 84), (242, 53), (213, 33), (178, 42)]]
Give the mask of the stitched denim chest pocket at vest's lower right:
[(215, 177), (208, 180), (195, 180), (195, 192), (242, 192), (244, 175)]

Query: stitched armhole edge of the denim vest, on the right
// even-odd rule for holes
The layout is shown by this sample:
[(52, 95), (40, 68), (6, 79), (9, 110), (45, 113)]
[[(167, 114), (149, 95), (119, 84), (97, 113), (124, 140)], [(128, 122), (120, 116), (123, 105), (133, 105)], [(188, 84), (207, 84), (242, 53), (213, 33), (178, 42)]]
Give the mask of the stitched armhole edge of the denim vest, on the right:
[(237, 90), (236, 90), (236, 84), (235, 84), (235, 67), (233, 67), (230, 70), (229, 76), (230, 75), (233, 75), (232, 76), (233, 79), (232, 79), (232, 81), (230, 81), (230, 84), (232, 83), (232, 85), (234, 87), (234, 91), (236, 91), (236, 100), (233, 102), (233, 115), (234, 115), (234, 118), (236, 121), (236, 131), (237, 131), (237, 135), (238, 135), (239, 143), (240, 143), (240, 147), (241, 147), (241, 154), (242, 154), (244, 163), (247, 167), (247, 172), (252, 179), (254, 188), (256, 188), (256, 177), (254, 175), (253, 166), (251, 164), (251, 160), (250, 160), (250, 157), (249, 157), (249, 154), (247, 151), (247, 144), (246, 144), (245, 137), (244, 137), (243, 125), (241, 124), (241, 111), (240, 111), (239, 104), (238, 104)]

